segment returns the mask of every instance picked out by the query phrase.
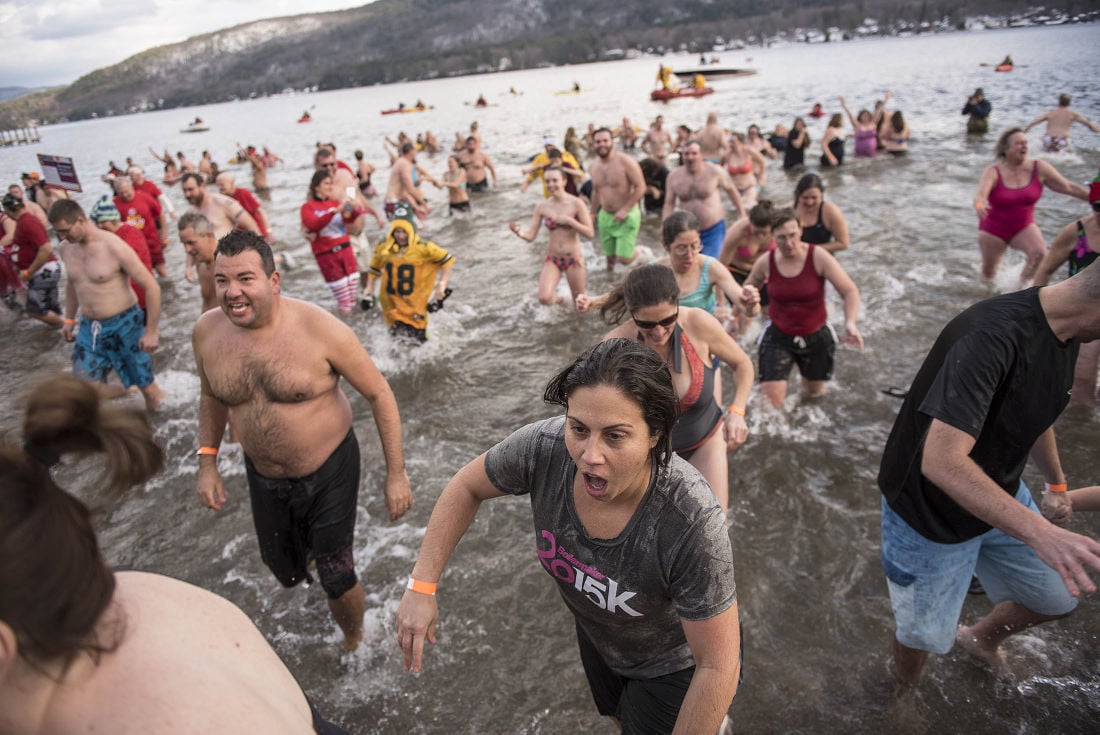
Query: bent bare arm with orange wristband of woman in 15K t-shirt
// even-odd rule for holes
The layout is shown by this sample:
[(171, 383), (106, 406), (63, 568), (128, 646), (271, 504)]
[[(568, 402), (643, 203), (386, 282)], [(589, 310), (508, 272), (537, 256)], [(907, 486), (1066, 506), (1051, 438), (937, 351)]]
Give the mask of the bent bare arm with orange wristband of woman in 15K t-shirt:
[[(436, 502), (411, 578), (435, 584), (447, 561), (477, 515), (482, 501), (504, 495), (488, 480), (485, 454), (459, 470)], [(439, 606), (436, 595), (406, 590), (397, 607), (397, 643), (405, 655), (405, 670), (419, 671), (424, 640), (436, 643)]]

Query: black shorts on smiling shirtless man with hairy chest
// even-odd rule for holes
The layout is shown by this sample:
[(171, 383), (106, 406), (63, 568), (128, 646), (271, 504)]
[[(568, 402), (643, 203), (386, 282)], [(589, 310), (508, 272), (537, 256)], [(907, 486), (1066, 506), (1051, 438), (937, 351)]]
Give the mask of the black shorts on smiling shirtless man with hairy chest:
[(312, 581), (307, 566), (317, 561), (321, 586), (333, 600), (355, 586), (352, 542), (359, 508), (359, 440), (355, 430), (324, 463), (305, 478), (265, 478), (244, 456), (252, 500), (252, 522), (260, 557), (284, 586)]

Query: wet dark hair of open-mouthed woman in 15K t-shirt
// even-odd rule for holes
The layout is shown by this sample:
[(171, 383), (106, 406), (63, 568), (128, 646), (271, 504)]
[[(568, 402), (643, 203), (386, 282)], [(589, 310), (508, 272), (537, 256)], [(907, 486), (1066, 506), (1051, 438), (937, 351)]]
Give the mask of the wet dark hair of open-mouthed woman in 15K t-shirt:
[(550, 379), (542, 399), (569, 410), (569, 397), (580, 387), (608, 385), (641, 409), (657, 443), (649, 454), (659, 468), (672, 459), (672, 427), (679, 398), (668, 365), (656, 352), (631, 339), (609, 339), (590, 348), (569, 368)]

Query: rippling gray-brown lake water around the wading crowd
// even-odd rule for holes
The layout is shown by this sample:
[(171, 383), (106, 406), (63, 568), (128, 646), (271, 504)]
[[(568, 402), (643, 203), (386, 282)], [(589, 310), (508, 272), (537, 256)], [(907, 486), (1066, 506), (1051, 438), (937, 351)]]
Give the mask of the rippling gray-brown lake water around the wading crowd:
[[(1097, 25), (976, 34), (796, 45), (723, 54), (752, 66), (752, 77), (715, 80), (703, 100), (649, 101), (657, 59), (637, 59), (502, 75), (439, 79), (387, 87), (223, 103), (102, 119), (42, 129), (34, 147), (0, 151), (0, 175), (18, 180), (36, 168), (36, 152), (75, 158), (90, 205), (106, 191), (98, 175), (109, 160), (132, 155), (151, 172), (146, 149), (183, 150), (198, 160), (209, 149), (224, 162), (237, 143), (270, 145), (286, 163), (271, 172), (266, 204), (274, 231), (299, 266), (284, 279), (293, 296), (333, 307), (308, 245), (298, 235), (316, 141), (332, 141), (342, 158), (355, 149), (380, 166), (383, 136), (398, 130), (436, 132), (450, 141), (476, 119), (501, 178), (499, 189), (476, 196), (474, 215), (446, 217), (446, 196), (429, 190), (437, 212), (430, 237), (455, 257), (454, 295), (431, 318), (431, 340), (416, 353), (394, 351), (376, 314), (351, 325), (388, 377), (400, 404), (406, 457), (416, 505), (400, 522), (386, 520), (382, 456), (366, 404), (352, 397), (363, 441), (364, 473), (356, 557), (367, 591), (366, 643), (342, 655), (323, 594), (282, 590), (260, 561), (246, 502), (240, 453), (221, 460), (230, 501), (220, 514), (195, 496), (198, 379), (189, 333), (198, 289), (177, 279), (165, 288), (162, 347), (154, 363), (167, 390), (157, 435), (168, 452), (166, 471), (143, 492), (108, 508), (101, 538), (112, 563), (132, 564), (188, 580), (240, 605), (263, 629), (318, 706), (355, 733), (613, 733), (591, 702), (570, 615), (536, 563), (527, 503), (487, 503), (441, 582), (440, 643), (419, 676), (402, 671), (393, 617), (424, 527), (447, 480), (513, 429), (553, 413), (541, 391), (557, 370), (604, 333), (594, 316), (540, 306), (535, 298), (544, 234), (528, 244), (507, 230), (538, 199), (519, 191), (519, 169), (541, 138), (560, 140), (568, 125), (616, 124), (624, 116), (646, 124), (657, 113), (672, 127), (698, 127), (708, 111), (744, 131), (790, 124), (815, 101), (838, 110), (843, 95), (858, 109), (887, 89), (913, 131), (911, 154), (851, 161), (824, 174), (827, 197), (845, 212), (851, 248), (839, 255), (862, 294), (862, 354), (840, 350), (836, 376), (823, 399), (791, 398), (784, 415), (767, 412), (754, 394), (751, 435), (730, 458), (730, 534), (745, 628), (745, 682), (732, 715), (750, 733), (884, 732), (893, 724), (873, 682), (889, 661), (892, 616), (879, 563), (879, 458), (898, 401), (881, 393), (906, 386), (943, 325), (998, 288), (978, 283), (977, 222), (970, 200), (996, 134), (1053, 107), (1059, 92), (1100, 120), (1094, 84)], [(991, 66), (1005, 54), (1011, 74)], [(748, 57), (751, 57), (749, 61)], [(692, 65), (694, 57), (674, 59)], [(668, 62), (668, 59), (666, 59)], [(579, 81), (585, 92), (556, 96)], [(506, 95), (509, 86), (521, 97)], [(959, 114), (966, 97), (983, 87), (993, 103), (992, 133), (968, 139)], [(469, 107), (484, 94), (493, 107)], [(380, 116), (417, 98), (435, 109)], [(302, 109), (314, 122), (298, 124)], [(182, 134), (200, 116), (211, 130)], [(816, 162), (824, 121), (811, 123)], [(1033, 152), (1042, 130), (1033, 131)], [(1048, 160), (1068, 178), (1091, 179), (1100, 136), (1074, 130), (1075, 150)], [(850, 142), (849, 142), (850, 156)], [(433, 172), (444, 156), (421, 156)], [(796, 177), (771, 164), (766, 196), (791, 198)], [(248, 185), (246, 168), (231, 168)], [(177, 209), (178, 187), (168, 188)], [(1088, 212), (1078, 200), (1047, 191), (1036, 220), (1049, 241), (1065, 223)], [(656, 218), (640, 243), (660, 250)], [(377, 230), (371, 230), (372, 238)], [(610, 281), (602, 257), (586, 245), (590, 293)], [(1011, 252), (998, 286), (1011, 286), (1022, 260)], [(173, 239), (169, 270), (184, 255)], [(616, 277), (620, 277), (618, 274)], [(834, 322), (837, 304), (831, 305)], [(69, 348), (36, 323), (0, 318), (0, 366), (8, 375), (4, 424), (28, 384), (69, 364)], [(755, 356), (755, 348), (747, 345)], [(1057, 425), (1063, 464), (1071, 483), (1096, 482), (1096, 409), (1071, 406)], [(1092, 459), (1089, 459), (1092, 458)], [(59, 471), (63, 484), (85, 486), (82, 465)], [(1028, 470), (1025, 479), (1041, 482)], [(89, 496), (95, 490), (86, 487)], [(1075, 530), (1100, 536), (1100, 518), (1076, 518)], [(964, 622), (988, 610), (971, 597)], [(965, 656), (933, 657), (923, 685), (931, 732), (1094, 732), (1100, 721), (1100, 606), (1082, 600), (1068, 621), (1016, 636), (1008, 651), (1015, 681), (994, 680)]]

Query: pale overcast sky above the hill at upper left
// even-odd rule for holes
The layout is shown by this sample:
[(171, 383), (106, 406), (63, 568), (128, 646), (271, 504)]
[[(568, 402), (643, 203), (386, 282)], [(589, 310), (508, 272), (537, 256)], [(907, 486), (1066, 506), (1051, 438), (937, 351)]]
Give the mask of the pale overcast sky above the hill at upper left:
[(0, 0), (0, 87), (65, 85), (134, 54), (263, 18), (371, 0)]

